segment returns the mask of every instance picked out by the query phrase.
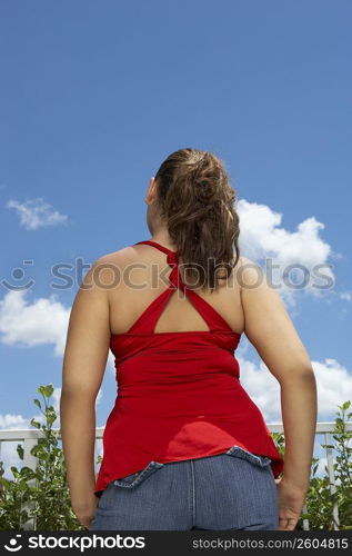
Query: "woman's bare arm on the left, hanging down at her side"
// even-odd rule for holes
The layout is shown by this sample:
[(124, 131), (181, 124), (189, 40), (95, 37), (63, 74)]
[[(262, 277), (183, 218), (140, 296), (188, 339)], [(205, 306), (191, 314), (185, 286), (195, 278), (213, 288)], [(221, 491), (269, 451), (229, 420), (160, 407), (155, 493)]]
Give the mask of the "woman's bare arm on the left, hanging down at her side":
[(102, 259), (95, 261), (87, 272), (72, 305), (60, 399), (62, 447), (71, 504), (81, 522), (86, 522), (84, 525), (89, 523), (98, 502), (93, 494), (95, 398), (110, 342), (108, 291), (101, 287), (104, 270), (99, 272), (97, 279), (101, 262)]

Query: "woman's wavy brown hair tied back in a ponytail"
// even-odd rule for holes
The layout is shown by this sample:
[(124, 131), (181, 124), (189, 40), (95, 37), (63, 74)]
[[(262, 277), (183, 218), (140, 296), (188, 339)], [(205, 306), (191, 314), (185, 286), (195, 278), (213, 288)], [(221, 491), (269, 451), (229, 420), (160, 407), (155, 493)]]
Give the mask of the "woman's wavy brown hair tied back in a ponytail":
[[(212, 152), (180, 149), (162, 162), (154, 178), (158, 208), (185, 277), (195, 275), (202, 288), (218, 289), (218, 279), (228, 279), (240, 258), (237, 192), (223, 161)], [(217, 272), (222, 267), (224, 277)]]

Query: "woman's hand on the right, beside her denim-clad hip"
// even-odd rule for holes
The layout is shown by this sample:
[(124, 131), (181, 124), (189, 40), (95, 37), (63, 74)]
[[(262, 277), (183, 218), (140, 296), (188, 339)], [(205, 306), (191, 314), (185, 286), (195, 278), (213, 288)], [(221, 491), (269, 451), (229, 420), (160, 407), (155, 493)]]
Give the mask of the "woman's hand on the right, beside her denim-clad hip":
[(275, 479), (278, 492), (279, 530), (294, 530), (301, 516), (306, 489), (302, 489), (289, 479)]

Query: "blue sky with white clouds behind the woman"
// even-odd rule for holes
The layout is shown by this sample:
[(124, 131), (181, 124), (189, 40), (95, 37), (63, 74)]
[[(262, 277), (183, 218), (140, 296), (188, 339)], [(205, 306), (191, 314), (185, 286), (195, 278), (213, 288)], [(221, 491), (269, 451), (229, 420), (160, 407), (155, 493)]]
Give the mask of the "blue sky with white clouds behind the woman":
[[(0, 1), (0, 428), (29, 427), (39, 385), (58, 400), (77, 284), (54, 289), (52, 265), (149, 238), (149, 179), (183, 147), (224, 160), (243, 255), (332, 265), (329, 291), (283, 297), (320, 420), (351, 399), (351, 17), (349, 0)], [(4, 286), (30, 279), (19, 295)], [(239, 357), (280, 420), (245, 339)], [(114, 396), (109, 367), (98, 425)]]

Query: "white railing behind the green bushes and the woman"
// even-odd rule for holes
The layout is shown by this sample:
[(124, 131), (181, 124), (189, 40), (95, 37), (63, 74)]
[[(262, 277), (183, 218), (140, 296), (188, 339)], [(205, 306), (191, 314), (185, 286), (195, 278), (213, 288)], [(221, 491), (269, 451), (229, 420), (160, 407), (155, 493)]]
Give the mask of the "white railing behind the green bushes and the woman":
[[(281, 423), (272, 423), (268, 424), (268, 428), (271, 433), (283, 433), (283, 425)], [(56, 433), (59, 433), (59, 429), (52, 429)], [(345, 430), (352, 430), (352, 423), (345, 424)], [(104, 427), (95, 428), (95, 440), (102, 439), (102, 435), (104, 431)], [(332, 435), (334, 431), (334, 423), (316, 423), (315, 435), (324, 435), (324, 441), (321, 444), (325, 444), (332, 446)], [(3, 441), (22, 441), (23, 443), (23, 465), (36, 469), (37, 467), (37, 457), (31, 455), (32, 447), (37, 444), (38, 439), (42, 438), (42, 431), (39, 429), (22, 429), (22, 430), (0, 430), (0, 460), (1, 458), (1, 446)], [(59, 435), (58, 438), (61, 438)], [(333, 495), (336, 492), (335, 486), (335, 475), (334, 475), (334, 459), (333, 459), (333, 448), (325, 448), (326, 453), (326, 461), (328, 461), (328, 474), (330, 481), (330, 493)], [(97, 443), (95, 443), (95, 454), (94, 461), (97, 461)], [(31, 483), (31, 481), (29, 481)], [(26, 507), (26, 505), (24, 505)], [(29, 506), (28, 506), (29, 509)], [(303, 512), (306, 512), (305, 505), (303, 506)], [(333, 519), (334, 519), (334, 529), (339, 530), (340, 520), (339, 520), (339, 508), (338, 504), (333, 506)], [(34, 530), (36, 524), (33, 519), (29, 519), (26, 524), (23, 524), (26, 529)], [(303, 529), (309, 530), (309, 520), (303, 519)]]

